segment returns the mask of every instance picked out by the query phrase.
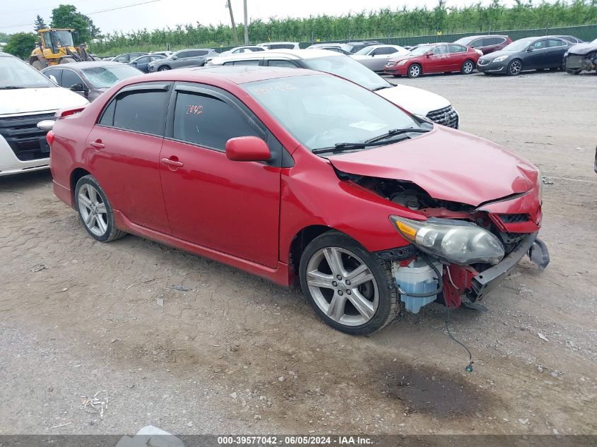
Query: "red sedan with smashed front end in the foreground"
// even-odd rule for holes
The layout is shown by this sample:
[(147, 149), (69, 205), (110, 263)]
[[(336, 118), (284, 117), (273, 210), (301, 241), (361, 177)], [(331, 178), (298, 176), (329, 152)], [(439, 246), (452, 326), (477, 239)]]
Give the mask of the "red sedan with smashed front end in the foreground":
[(80, 110), (47, 138), (54, 191), (92, 237), (300, 283), (346, 333), (382, 328), (401, 302), (474, 302), (525, 254), (548, 262), (533, 165), (336, 76), (166, 71)]

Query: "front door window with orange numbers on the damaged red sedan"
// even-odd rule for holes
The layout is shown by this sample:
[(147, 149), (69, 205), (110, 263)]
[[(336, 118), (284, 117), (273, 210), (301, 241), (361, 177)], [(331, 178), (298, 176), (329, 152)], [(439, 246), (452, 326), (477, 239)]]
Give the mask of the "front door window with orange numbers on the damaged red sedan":
[(237, 136), (262, 137), (247, 117), (227, 102), (199, 93), (178, 93), (172, 131), (175, 140), (225, 150), (226, 142)]

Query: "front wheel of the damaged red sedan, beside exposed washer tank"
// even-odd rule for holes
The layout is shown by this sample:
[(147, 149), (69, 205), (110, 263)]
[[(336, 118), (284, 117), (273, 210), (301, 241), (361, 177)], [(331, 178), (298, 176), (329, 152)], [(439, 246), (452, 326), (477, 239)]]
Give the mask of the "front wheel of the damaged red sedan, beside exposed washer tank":
[(299, 277), (317, 315), (344, 333), (373, 333), (400, 309), (389, 263), (341, 232), (326, 232), (307, 245)]

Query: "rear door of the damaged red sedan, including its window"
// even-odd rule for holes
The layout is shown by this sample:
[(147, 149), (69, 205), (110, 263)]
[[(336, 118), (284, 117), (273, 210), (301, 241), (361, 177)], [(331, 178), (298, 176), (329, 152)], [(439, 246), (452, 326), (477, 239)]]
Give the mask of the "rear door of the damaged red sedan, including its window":
[(164, 233), (170, 225), (159, 162), (169, 88), (170, 83), (145, 83), (120, 90), (85, 142), (90, 171), (114, 208), (137, 225)]

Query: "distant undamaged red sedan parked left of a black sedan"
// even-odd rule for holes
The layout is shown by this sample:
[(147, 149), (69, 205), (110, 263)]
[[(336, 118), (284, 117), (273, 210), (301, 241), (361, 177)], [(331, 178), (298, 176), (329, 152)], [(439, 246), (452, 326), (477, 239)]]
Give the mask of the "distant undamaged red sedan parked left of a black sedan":
[(413, 49), (405, 56), (389, 59), (384, 73), (394, 76), (407, 75), (418, 78), (427, 73), (450, 73), (460, 71), (471, 74), (477, 66), (480, 54), (471, 47), (459, 44), (430, 44)]

